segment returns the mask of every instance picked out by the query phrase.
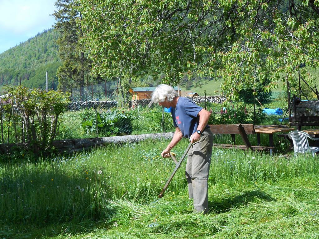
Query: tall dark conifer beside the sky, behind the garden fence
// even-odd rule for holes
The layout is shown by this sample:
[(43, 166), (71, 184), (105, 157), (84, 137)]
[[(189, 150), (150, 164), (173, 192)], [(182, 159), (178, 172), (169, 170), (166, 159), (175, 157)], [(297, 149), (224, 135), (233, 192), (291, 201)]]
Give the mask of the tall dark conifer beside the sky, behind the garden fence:
[(59, 45), (58, 53), (63, 62), (56, 74), (59, 89), (67, 90), (72, 86), (80, 87), (80, 98), (82, 98), (85, 73), (91, 70), (91, 61), (87, 60), (78, 41), (82, 36), (82, 30), (76, 24), (76, 19), (81, 19), (82, 14), (78, 11), (78, 4), (73, 0), (57, 0), (55, 5), (57, 10), (53, 13), (56, 18), (54, 27), (60, 32), (57, 43)]

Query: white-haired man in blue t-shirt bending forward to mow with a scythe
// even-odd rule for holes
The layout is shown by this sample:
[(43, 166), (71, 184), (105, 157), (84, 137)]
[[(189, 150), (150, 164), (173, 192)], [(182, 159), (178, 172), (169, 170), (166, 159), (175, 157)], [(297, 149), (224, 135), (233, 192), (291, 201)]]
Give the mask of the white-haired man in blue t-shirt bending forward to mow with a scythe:
[(170, 151), (183, 136), (193, 143), (187, 155), (185, 172), (189, 199), (194, 198), (195, 211), (208, 213), (207, 180), (213, 134), (207, 123), (211, 113), (188, 98), (178, 97), (174, 88), (165, 84), (156, 87), (152, 93), (152, 102), (158, 102), (166, 108), (172, 106), (172, 118), (176, 129), (173, 139), (163, 150), (162, 157), (170, 157)]

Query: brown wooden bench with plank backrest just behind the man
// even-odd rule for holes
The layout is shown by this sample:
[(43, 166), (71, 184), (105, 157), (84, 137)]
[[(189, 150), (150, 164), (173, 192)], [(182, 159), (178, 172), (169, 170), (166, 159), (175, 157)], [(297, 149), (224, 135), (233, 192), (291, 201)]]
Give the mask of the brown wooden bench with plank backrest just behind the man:
[[(213, 134), (231, 134), (232, 141), (234, 144), (213, 144), (214, 147), (218, 148), (233, 148), (233, 149), (244, 149), (244, 150), (271, 150), (274, 147), (266, 146), (252, 146), (248, 139), (248, 134), (256, 134), (253, 124), (237, 124), (237, 125), (209, 125)], [(240, 134), (244, 142), (244, 145), (235, 144), (235, 134)]]

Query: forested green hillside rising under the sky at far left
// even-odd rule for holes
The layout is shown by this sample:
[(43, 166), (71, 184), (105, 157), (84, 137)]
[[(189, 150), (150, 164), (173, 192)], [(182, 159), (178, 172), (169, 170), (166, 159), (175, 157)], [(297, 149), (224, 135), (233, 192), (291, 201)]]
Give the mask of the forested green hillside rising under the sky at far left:
[(17, 85), (21, 76), (23, 85), (45, 89), (48, 71), (49, 88), (52, 88), (52, 76), (56, 88), (56, 70), (62, 64), (56, 44), (58, 36), (52, 28), (0, 54), (0, 86)]

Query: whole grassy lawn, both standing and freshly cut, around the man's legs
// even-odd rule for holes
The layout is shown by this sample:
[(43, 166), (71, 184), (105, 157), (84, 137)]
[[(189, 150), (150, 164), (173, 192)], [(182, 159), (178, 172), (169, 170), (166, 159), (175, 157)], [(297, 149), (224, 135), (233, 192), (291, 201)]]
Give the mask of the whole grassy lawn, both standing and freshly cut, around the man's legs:
[[(210, 214), (192, 213), (185, 162), (168, 141), (1, 165), (4, 238), (318, 238), (319, 162), (309, 155), (213, 149)], [(179, 158), (188, 142), (179, 143)], [(99, 174), (101, 173), (101, 174)]]

